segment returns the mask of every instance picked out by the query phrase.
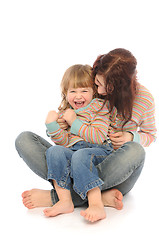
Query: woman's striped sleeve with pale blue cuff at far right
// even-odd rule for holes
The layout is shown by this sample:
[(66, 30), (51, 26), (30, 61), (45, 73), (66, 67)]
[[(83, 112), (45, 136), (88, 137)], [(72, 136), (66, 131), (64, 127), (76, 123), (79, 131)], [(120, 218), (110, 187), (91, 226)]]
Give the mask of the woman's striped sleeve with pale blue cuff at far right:
[(155, 104), (154, 102), (144, 112), (139, 130), (132, 132), (134, 135), (134, 142), (140, 143), (143, 147), (148, 147), (156, 140), (156, 126), (155, 126)]

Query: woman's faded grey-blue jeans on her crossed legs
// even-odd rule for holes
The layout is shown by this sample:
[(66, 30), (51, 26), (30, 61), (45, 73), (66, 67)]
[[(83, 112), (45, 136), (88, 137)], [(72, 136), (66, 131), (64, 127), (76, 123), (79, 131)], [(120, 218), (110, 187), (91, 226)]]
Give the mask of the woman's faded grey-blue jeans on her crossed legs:
[[(52, 145), (42, 137), (32, 132), (22, 132), (16, 139), (16, 149), (20, 157), (38, 176), (47, 180), (48, 168), (46, 151)], [(127, 194), (135, 185), (144, 165), (144, 148), (135, 142), (127, 142), (122, 147), (106, 156), (104, 161), (96, 168), (98, 176), (103, 180), (102, 191), (116, 188), (123, 195)], [(87, 199), (81, 197), (73, 190), (71, 195), (75, 206), (81, 206)], [(58, 201), (56, 191), (51, 190), (52, 203)]]

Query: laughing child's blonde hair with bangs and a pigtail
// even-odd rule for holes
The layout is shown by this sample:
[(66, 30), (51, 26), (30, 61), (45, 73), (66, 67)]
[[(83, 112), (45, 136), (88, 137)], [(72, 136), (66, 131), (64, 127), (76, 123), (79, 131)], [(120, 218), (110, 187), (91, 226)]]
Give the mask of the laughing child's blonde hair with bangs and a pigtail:
[(96, 86), (93, 81), (91, 66), (76, 64), (76, 65), (69, 67), (66, 70), (66, 72), (64, 73), (64, 76), (62, 78), (62, 81), (61, 81), (62, 101), (58, 108), (59, 111), (63, 111), (70, 107), (70, 105), (66, 99), (67, 91), (70, 87), (71, 88), (91, 87), (95, 94), (97, 91), (96, 91)]

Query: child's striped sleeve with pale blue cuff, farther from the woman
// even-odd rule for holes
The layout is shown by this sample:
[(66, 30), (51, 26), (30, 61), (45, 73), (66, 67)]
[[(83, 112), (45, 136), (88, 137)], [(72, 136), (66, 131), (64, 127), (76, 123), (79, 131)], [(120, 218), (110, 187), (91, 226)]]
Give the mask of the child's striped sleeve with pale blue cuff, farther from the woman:
[(60, 128), (60, 125), (55, 121), (49, 124), (46, 124), (47, 135), (51, 137), (51, 140), (61, 146), (67, 146), (69, 142), (68, 131)]

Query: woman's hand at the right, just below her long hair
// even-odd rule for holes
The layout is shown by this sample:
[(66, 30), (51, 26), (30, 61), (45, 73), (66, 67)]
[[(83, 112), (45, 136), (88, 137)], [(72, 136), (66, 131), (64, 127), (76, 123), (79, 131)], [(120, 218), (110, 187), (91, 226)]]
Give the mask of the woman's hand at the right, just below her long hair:
[(109, 134), (109, 138), (112, 141), (114, 149), (118, 149), (124, 143), (132, 141), (133, 134), (130, 132), (117, 132)]

